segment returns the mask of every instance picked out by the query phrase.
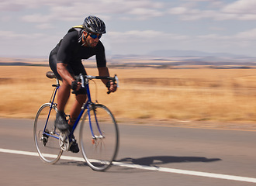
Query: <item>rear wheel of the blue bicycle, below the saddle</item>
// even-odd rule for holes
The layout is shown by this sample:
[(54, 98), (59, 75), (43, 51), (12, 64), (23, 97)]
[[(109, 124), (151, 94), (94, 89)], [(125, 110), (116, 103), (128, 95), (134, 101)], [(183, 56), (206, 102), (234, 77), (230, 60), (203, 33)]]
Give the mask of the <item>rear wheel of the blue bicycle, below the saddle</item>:
[(47, 164), (55, 164), (63, 152), (59, 143), (60, 131), (54, 127), (56, 112), (55, 105), (50, 108), (50, 103), (45, 103), (39, 108), (34, 122), (36, 150), (40, 159)]

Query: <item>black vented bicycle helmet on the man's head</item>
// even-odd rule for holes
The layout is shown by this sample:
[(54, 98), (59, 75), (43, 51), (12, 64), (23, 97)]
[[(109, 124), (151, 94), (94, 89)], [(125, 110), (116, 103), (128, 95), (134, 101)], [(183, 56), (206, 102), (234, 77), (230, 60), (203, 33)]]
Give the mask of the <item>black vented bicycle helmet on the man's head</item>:
[(83, 26), (86, 31), (92, 33), (106, 33), (105, 23), (102, 21), (102, 19), (99, 19), (99, 17), (96, 16), (90, 15), (87, 18), (85, 18)]

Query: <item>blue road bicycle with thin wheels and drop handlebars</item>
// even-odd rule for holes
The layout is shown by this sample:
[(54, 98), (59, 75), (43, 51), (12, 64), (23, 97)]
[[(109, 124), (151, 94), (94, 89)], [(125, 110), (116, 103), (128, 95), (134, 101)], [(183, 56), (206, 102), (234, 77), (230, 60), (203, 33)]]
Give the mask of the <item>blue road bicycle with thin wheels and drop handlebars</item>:
[[(34, 121), (33, 137), (40, 159), (47, 164), (56, 164), (62, 153), (69, 150), (73, 142), (71, 136), (81, 121), (79, 131), (81, 153), (92, 170), (105, 171), (116, 158), (119, 148), (119, 129), (109, 108), (98, 102), (92, 102), (89, 81), (92, 79), (109, 79), (118, 85), (117, 76), (79, 75), (82, 87), (86, 88), (87, 91), (87, 101), (83, 104), (80, 115), (69, 134), (61, 133), (54, 126), (57, 112), (57, 103), (54, 102), (54, 99), (60, 88), (60, 81), (53, 72), (47, 72), (47, 77), (55, 78), (57, 83), (52, 84), (54, 91), (50, 97), (50, 102), (41, 105)], [(67, 119), (68, 117), (69, 115), (67, 115)]]

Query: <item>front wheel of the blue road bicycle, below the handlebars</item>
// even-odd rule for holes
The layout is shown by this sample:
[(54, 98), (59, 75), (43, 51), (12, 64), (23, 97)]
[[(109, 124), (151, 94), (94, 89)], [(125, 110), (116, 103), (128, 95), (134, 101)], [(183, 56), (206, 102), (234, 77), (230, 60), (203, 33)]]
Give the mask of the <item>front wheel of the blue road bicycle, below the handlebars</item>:
[(105, 171), (115, 160), (119, 147), (119, 131), (109, 108), (92, 105), (81, 121), (79, 141), (89, 167)]

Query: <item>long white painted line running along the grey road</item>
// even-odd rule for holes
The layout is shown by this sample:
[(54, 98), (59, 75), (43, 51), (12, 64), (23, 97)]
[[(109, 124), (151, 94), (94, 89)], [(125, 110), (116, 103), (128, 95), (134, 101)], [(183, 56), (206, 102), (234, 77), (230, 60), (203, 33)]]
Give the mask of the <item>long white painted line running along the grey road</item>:
[[(28, 151), (22, 151), (22, 150), (8, 150), (8, 149), (1, 149), (1, 148), (0, 148), (0, 153), (15, 153), (15, 154), (21, 154), (21, 155), (33, 156), (33, 157), (38, 156), (38, 153), (34, 153), (34, 152), (28, 152)], [(49, 154), (49, 157), (50, 156), (51, 155)], [(61, 156), (61, 159), (85, 161), (84, 158), (81, 158), (81, 157)], [(186, 171), (181, 169), (172, 169), (172, 168), (165, 168), (165, 167), (150, 167), (146, 165), (124, 164), (122, 162), (113, 162), (112, 164), (119, 167), (130, 167), (130, 168), (137, 168), (137, 169), (143, 169), (143, 170), (149, 170), (149, 171), (160, 171), (160, 172), (168, 172), (168, 173), (174, 173), (174, 174), (186, 174), (191, 176), (212, 177), (212, 178), (225, 179), (225, 180), (231, 180), (231, 181), (246, 181), (250, 183), (256, 183), (256, 178), (254, 177), (240, 177), (240, 176), (233, 176), (233, 175), (227, 175), (227, 174), (214, 174), (214, 173), (207, 173), (207, 172), (200, 172), (200, 171)]]

